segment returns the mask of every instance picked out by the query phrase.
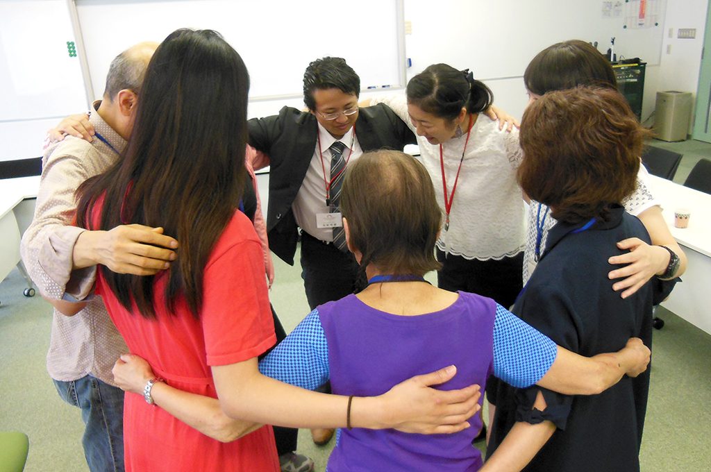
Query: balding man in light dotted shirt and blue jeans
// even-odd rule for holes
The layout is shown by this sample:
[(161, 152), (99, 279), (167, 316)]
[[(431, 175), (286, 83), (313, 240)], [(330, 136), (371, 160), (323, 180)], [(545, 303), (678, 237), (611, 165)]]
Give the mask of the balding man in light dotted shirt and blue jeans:
[[(85, 298), (96, 264), (116, 272), (155, 274), (175, 257), (166, 248), (177, 247), (176, 240), (159, 228), (130, 225), (87, 231), (73, 225), (77, 187), (112, 166), (126, 146), (141, 82), (156, 47), (141, 43), (114, 58), (103, 100), (94, 103), (90, 117), (95, 129), (91, 143), (67, 136), (43, 156), (35, 216), (23, 235), (21, 253), (47, 299)], [(113, 384), (111, 369), (127, 352), (100, 298), (71, 318), (53, 313), (47, 370), (60, 397), (81, 410), (82, 446), (92, 472), (124, 470), (124, 392)]]

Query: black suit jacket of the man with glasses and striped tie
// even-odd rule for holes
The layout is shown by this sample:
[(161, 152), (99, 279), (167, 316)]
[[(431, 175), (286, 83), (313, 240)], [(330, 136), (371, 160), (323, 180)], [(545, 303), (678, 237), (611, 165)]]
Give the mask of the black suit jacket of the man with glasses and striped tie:
[[(269, 248), (284, 262), (294, 265), (298, 233), (292, 203), (306, 176), (316, 150), (316, 117), (309, 112), (284, 107), (279, 114), (250, 119), (250, 145), (269, 156)], [(363, 151), (398, 149), (415, 144), (407, 124), (385, 104), (361, 108), (355, 134)]]

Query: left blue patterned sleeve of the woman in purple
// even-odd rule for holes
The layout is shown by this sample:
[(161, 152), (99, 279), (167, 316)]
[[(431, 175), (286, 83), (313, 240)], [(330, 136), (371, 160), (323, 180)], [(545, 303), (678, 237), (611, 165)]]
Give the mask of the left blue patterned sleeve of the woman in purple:
[(314, 309), (264, 359), (260, 372), (267, 377), (314, 390), (326, 383), (328, 343), (318, 309)]

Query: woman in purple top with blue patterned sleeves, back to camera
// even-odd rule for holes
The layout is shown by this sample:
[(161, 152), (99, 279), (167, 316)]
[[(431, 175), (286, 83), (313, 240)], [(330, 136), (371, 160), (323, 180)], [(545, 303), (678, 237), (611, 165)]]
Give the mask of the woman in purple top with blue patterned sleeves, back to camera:
[[(442, 213), (422, 164), (398, 151), (363, 154), (349, 166), (341, 194), (349, 249), (370, 284), (357, 295), (321, 305), (260, 363), (264, 375), (354, 396), (343, 412), (351, 424), (358, 395), (377, 395), (432, 366), (456, 365), (442, 390), (479, 383), (493, 373), (517, 387), (535, 383), (570, 395), (601, 392), (646, 369), (640, 340), (623, 350), (584, 358), (557, 347), (492, 299), (451, 292), (422, 277), (437, 269), (434, 244)], [(125, 356), (114, 375), (137, 391), (152, 378), (137, 356)], [(178, 392), (164, 389), (185, 404)], [(167, 397), (166, 397), (167, 398)], [(481, 400), (480, 400), (481, 402)], [(351, 404), (352, 403), (352, 404)], [(172, 409), (171, 414), (180, 413)], [(395, 429), (342, 429), (329, 471), (476, 471), (471, 446), (478, 415), (456, 434), (402, 434)]]

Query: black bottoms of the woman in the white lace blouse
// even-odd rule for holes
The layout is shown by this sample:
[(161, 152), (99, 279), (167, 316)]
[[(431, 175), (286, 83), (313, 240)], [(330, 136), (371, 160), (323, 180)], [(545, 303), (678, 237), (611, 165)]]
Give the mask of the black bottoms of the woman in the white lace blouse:
[(499, 261), (479, 261), (437, 249), (437, 260), (442, 262), (442, 270), (437, 272), (440, 289), (488, 296), (509, 309), (523, 288), (523, 252)]

